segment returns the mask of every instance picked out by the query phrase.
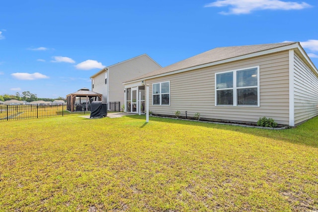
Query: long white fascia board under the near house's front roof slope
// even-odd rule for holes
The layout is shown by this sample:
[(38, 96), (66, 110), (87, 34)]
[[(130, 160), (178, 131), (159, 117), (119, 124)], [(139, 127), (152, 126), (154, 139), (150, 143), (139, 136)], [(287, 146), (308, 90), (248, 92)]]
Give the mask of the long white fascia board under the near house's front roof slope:
[(203, 64), (203, 65), (199, 65), (199, 66), (189, 67), (189, 68), (186, 68), (186, 69), (181, 69), (181, 70), (161, 73), (161, 74), (158, 74), (158, 75), (149, 76), (149, 77), (145, 77), (145, 78), (142, 78), (142, 79), (136, 79), (134, 81), (124, 82), (123, 84), (137, 82), (137, 81), (140, 81), (140, 80), (158, 78), (158, 77), (161, 77), (161, 76), (167, 76), (167, 75), (171, 75), (171, 74), (175, 74), (175, 73), (181, 73), (181, 72), (185, 72), (185, 71), (192, 71), (192, 70), (196, 70), (196, 69), (202, 69), (202, 68), (206, 68), (206, 67), (210, 67), (210, 66), (230, 63), (230, 62), (244, 60), (244, 59), (253, 58), (253, 57), (258, 57), (258, 56), (262, 56), (262, 55), (268, 55), (268, 54), (272, 54), (272, 53), (275, 53), (275, 52), (287, 51), (287, 50), (295, 49), (295, 48), (298, 48), (298, 47), (299, 47), (298, 43), (294, 43), (294, 44), (291, 44), (291, 45), (288, 45), (288, 46), (282, 46), (282, 47), (278, 47), (278, 48), (274, 48), (274, 49), (264, 50), (264, 51), (261, 51), (261, 52), (255, 52), (255, 53), (251, 53), (251, 54), (247, 54), (247, 55), (238, 56), (238, 57), (235, 57), (235, 58), (225, 59), (225, 60), (222, 60), (222, 61), (216, 61), (216, 62)]

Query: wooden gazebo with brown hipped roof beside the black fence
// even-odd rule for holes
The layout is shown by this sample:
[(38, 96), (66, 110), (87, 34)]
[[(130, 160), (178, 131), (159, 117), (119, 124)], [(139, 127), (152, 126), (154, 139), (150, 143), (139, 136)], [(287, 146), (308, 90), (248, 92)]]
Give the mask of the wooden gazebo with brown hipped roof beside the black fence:
[[(76, 102), (76, 97), (85, 97), (85, 102), (81, 102), (81, 98), (79, 98), (79, 102)], [(90, 103), (90, 99), (93, 98), (96, 101), (101, 101), (102, 94), (96, 93), (94, 91), (90, 91), (88, 88), (81, 88), (78, 91), (71, 93), (66, 96), (68, 107), (67, 109), (71, 112), (74, 111), (82, 111), (83, 109), (88, 111), (88, 103)], [(77, 105), (76, 105), (77, 104)]]

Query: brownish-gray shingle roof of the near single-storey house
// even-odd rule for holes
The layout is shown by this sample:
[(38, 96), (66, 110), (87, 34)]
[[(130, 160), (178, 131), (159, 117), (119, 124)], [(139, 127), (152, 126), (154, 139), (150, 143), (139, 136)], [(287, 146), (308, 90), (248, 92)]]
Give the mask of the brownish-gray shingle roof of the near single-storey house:
[[(231, 59), (243, 55), (248, 55), (251, 53), (261, 52), (264, 50), (274, 49), (278, 47), (288, 46), (295, 44), (297, 42), (285, 42), (285, 43), (275, 43), (275, 44), (261, 44), (261, 45), (250, 45), (250, 46), (233, 46), (233, 47), (221, 47), (215, 48), (210, 51), (201, 53), (199, 55), (193, 56), (191, 58), (185, 59), (183, 61), (177, 62), (170, 66), (164, 67), (162, 69), (152, 71), (131, 79), (129, 81), (134, 81), (138, 79), (143, 79), (147, 77), (156, 76), (163, 73), (168, 73), (171, 71), (178, 71), (182, 69), (187, 69), (199, 65), (209, 64), (213, 62), (218, 62), (226, 59)], [(127, 81), (128, 82), (128, 81)]]

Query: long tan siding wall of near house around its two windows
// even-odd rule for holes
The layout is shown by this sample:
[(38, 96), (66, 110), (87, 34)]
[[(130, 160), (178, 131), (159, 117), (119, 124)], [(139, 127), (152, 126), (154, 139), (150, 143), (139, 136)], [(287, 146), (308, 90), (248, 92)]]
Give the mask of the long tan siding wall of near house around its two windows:
[[(215, 106), (215, 73), (259, 66), (260, 107)], [(170, 106), (152, 105), (152, 84), (170, 81)], [(259, 56), (213, 67), (186, 71), (148, 79), (150, 111), (154, 114), (257, 122), (260, 117), (273, 118), (279, 124), (289, 124), (289, 53), (288, 51)]]

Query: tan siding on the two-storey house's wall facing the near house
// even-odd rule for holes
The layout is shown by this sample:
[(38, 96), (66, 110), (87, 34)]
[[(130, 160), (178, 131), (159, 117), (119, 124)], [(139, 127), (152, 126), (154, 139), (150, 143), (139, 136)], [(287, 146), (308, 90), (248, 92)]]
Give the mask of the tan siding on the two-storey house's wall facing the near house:
[(120, 102), (124, 104), (124, 88), (122, 84), (129, 79), (155, 71), (161, 67), (150, 59), (147, 55), (128, 60), (118, 65), (109, 67), (108, 82), (109, 82), (109, 100), (110, 102)]

